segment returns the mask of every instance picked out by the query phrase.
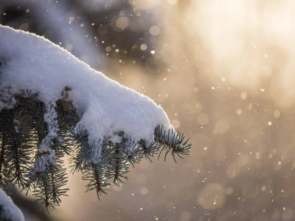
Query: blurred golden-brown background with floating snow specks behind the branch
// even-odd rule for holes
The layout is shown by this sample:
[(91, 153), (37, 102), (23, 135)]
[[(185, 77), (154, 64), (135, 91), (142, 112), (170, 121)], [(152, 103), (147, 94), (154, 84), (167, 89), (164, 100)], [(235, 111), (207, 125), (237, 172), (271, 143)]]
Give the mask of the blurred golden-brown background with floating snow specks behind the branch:
[(177, 164), (143, 160), (101, 201), (70, 175), (50, 217), (14, 194), (27, 220), (295, 220), (294, 11), (294, 0), (0, 0), (0, 24), (149, 96), (194, 143)]

